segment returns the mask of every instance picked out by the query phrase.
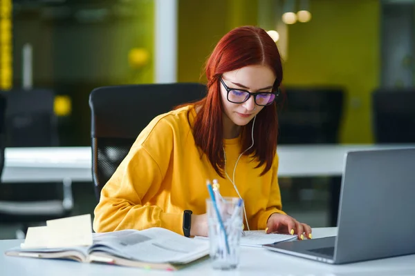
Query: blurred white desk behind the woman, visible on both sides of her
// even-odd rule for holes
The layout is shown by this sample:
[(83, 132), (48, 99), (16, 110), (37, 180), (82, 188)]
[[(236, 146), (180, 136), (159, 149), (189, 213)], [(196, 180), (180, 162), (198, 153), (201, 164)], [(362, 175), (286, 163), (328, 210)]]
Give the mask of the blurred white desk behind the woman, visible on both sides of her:
[[(340, 176), (351, 150), (407, 148), (412, 145), (282, 145), (278, 146), (279, 177)], [(6, 148), (3, 182), (91, 182), (90, 147)]]

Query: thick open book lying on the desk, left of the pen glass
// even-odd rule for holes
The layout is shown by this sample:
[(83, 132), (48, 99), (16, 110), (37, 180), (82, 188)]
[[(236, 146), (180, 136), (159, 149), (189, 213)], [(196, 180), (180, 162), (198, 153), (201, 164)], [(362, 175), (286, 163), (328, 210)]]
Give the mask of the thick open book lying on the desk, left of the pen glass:
[(164, 228), (94, 233), (91, 246), (6, 250), (6, 255), (176, 270), (209, 254), (209, 244)]

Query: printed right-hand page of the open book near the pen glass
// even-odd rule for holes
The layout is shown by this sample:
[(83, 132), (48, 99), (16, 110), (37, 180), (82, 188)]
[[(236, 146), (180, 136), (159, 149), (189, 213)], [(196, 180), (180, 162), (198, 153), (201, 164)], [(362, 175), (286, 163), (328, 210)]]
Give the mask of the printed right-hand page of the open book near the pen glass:
[(105, 252), (149, 263), (185, 263), (203, 257), (209, 244), (164, 228), (95, 234), (90, 253)]

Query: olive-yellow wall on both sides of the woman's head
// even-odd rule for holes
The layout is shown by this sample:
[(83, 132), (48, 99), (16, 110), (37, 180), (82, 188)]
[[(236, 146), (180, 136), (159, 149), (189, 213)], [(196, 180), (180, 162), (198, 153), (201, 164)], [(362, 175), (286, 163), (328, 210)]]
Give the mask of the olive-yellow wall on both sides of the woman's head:
[[(216, 42), (236, 26), (256, 25), (257, 3), (179, 1), (178, 81), (205, 81), (201, 69)], [(380, 74), (379, 1), (311, 0), (311, 12), (310, 22), (288, 27), (284, 84), (344, 86), (341, 141), (370, 143), (370, 95)]]

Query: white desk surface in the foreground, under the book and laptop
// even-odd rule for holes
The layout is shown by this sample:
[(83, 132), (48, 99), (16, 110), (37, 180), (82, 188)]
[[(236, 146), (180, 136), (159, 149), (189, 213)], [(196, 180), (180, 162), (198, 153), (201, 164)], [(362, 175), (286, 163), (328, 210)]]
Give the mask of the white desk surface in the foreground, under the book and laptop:
[[(315, 228), (313, 237), (336, 235), (336, 228)], [(175, 273), (158, 270), (141, 270), (105, 264), (81, 264), (63, 260), (31, 259), (4, 255), (7, 248), (18, 246), (19, 240), (0, 241), (0, 271), (8, 275), (415, 275), (415, 255), (380, 259), (356, 264), (331, 265), (308, 259), (276, 253), (264, 248), (241, 248), (239, 268), (220, 271), (211, 268), (207, 259)]]

